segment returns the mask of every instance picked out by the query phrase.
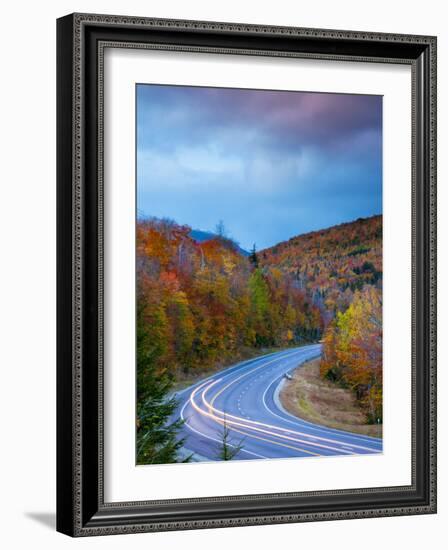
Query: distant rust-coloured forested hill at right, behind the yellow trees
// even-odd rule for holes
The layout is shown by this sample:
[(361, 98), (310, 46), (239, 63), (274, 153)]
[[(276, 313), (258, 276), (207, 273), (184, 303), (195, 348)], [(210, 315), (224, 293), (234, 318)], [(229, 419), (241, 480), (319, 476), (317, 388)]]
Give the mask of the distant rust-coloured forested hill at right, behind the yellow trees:
[(334, 313), (345, 309), (365, 285), (381, 287), (382, 216), (299, 235), (258, 256), (265, 269), (289, 274), (314, 304)]

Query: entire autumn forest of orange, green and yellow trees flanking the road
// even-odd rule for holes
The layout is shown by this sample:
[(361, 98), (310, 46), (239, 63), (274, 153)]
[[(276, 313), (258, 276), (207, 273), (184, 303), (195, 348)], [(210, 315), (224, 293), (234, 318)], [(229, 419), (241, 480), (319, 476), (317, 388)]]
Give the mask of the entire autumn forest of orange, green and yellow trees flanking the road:
[[(175, 424), (167, 434), (154, 420), (174, 410), (173, 384), (270, 349), (322, 342), (321, 376), (353, 392), (366, 423), (381, 421), (381, 234), (373, 216), (245, 253), (222, 222), (197, 239), (174, 221), (140, 219), (137, 432), (153, 439), (142, 462), (169, 462), (181, 444)], [(148, 455), (158, 447), (167, 456)]]

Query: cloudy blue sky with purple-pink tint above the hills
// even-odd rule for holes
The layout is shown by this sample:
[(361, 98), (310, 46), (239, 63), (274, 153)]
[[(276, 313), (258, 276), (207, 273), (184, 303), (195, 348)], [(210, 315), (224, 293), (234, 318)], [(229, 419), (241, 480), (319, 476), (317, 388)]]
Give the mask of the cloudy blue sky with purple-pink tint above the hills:
[(245, 249), (382, 211), (382, 98), (137, 86), (137, 208)]

